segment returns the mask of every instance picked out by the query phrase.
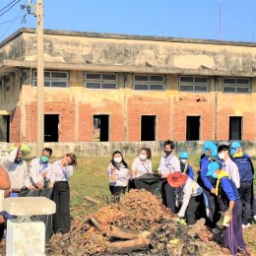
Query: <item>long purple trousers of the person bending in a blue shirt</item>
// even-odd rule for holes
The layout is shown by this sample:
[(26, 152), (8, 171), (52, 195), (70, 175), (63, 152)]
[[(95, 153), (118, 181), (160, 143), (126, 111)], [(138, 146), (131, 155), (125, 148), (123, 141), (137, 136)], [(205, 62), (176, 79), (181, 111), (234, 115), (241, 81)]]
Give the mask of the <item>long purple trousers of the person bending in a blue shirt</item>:
[(242, 203), (235, 201), (232, 219), (224, 229), (224, 247), (228, 248), (231, 255), (237, 255), (238, 247), (246, 251), (246, 244), (242, 236)]

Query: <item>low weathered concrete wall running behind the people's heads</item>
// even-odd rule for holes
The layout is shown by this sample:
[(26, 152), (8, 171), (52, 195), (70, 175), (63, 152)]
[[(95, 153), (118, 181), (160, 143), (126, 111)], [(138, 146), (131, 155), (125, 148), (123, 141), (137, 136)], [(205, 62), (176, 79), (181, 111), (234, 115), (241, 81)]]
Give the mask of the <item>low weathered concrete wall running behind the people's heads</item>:
[[(218, 145), (229, 145), (228, 141), (218, 141)], [(241, 143), (246, 152), (251, 157), (256, 157), (256, 141), (244, 141)], [(0, 143), (0, 156), (4, 156), (4, 152), (10, 144)], [(29, 156), (35, 157), (36, 145), (28, 144), (32, 148), (32, 154)], [(202, 152), (203, 142), (175, 142), (176, 152), (187, 151), (189, 154), (199, 154)], [(45, 143), (44, 147), (49, 147), (53, 150), (55, 158), (61, 158), (64, 154), (73, 152), (79, 157), (85, 156), (111, 156), (116, 150), (121, 151), (124, 155), (136, 156), (142, 147), (149, 147), (153, 155), (162, 154), (163, 142), (90, 142), (90, 143)]]

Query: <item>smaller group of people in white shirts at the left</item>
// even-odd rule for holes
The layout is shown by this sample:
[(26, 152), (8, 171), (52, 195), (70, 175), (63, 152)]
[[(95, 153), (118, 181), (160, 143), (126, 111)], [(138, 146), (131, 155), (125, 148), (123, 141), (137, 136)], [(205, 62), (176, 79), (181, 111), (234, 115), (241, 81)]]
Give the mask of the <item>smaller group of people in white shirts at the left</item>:
[[(56, 204), (53, 215), (52, 228), (54, 232), (67, 233), (70, 231), (70, 191), (69, 179), (73, 174), (73, 167), (77, 165), (77, 158), (69, 153), (61, 160), (50, 163), (52, 150), (44, 148), (41, 156), (33, 159), (28, 171), (27, 162), (23, 159), (23, 148), (17, 143), (9, 156), (2, 160), (2, 172), (9, 176), (10, 185), (5, 187), (5, 197), (19, 197), (27, 190), (49, 189), (50, 199)], [(0, 239), (3, 237), (7, 220), (16, 217), (7, 212), (0, 212)]]

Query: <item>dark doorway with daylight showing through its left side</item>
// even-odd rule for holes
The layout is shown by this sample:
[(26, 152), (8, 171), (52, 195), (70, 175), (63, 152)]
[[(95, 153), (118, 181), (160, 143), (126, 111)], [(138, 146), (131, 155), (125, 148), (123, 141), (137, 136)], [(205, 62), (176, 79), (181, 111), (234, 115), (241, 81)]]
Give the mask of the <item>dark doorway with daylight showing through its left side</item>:
[(94, 115), (94, 142), (109, 141), (109, 115)]

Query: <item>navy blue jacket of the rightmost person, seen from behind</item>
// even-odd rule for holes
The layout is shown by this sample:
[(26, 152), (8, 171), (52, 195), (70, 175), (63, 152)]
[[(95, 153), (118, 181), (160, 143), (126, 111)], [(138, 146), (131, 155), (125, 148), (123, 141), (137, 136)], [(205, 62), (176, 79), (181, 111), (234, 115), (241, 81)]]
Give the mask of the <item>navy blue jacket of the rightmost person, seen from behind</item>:
[(233, 160), (238, 167), (241, 182), (250, 182), (253, 180), (254, 169), (248, 155), (243, 154), (242, 157), (231, 158), (231, 160)]

